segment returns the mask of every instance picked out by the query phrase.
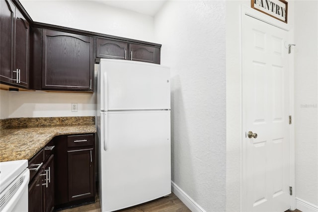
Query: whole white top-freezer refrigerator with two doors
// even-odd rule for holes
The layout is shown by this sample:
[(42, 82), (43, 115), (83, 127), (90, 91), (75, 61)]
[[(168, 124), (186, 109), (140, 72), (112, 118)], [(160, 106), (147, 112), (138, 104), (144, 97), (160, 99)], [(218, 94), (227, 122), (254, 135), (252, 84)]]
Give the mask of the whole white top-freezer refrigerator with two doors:
[(101, 59), (97, 80), (101, 211), (112, 212), (169, 195), (169, 68)]

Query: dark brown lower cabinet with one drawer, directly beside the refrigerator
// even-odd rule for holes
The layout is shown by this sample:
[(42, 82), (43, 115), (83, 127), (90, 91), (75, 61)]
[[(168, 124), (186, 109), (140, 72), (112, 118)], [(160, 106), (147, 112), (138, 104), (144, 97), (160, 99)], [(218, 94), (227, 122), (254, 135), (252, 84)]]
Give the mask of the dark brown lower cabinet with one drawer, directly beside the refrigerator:
[(60, 135), (55, 151), (55, 209), (95, 202), (95, 135)]

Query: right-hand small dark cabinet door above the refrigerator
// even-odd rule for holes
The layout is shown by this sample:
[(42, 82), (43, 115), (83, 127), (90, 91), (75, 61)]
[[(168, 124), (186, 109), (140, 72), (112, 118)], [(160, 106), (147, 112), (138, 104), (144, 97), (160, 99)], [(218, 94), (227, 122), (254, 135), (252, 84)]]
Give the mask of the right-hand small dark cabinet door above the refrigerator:
[(160, 64), (160, 49), (152, 46), (129, 44), (130, 60)]

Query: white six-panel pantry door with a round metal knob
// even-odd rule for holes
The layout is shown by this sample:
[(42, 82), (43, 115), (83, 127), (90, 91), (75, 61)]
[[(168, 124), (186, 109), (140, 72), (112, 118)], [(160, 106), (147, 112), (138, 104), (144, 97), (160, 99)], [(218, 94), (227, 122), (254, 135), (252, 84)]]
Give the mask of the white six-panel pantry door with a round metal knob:
[(288, 32), (247, 15), (242, 27), (243, 209), (284, 212), (290, 208)]

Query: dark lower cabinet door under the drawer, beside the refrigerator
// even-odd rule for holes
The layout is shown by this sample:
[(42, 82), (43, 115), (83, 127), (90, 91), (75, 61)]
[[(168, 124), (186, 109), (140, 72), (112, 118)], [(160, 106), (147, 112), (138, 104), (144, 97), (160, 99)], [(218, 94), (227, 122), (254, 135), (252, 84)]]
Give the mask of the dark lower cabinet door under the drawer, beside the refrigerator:
[(93, 148), (68, 150), (69, 201), (94, 196)]

